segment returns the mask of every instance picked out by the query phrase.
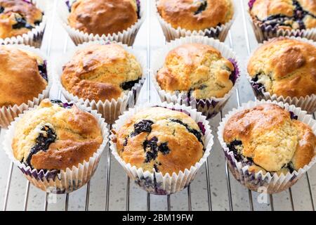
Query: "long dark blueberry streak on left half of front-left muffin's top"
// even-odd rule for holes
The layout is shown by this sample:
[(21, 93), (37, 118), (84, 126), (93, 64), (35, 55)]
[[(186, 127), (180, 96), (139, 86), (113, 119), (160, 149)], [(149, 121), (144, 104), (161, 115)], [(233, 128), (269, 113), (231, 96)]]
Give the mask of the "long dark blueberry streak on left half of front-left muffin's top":
[(46, 151), (49, 147), (49, 145), (53, 142), (55, 142), (57, 135), (55, 134), (55, 131), (51, 129), (51, 127), (44, 126), (41, 128), (41, 131), (45, 131), (46, 135), (44, 134), (39, 134), (37, 137), (35, 145), (31, 148), (29, 151), (29, 155), (27, 156), (27, 159), (25, 160), (25, 165), (31, 166), (31, 160), (32, 156), (37, 154), (39, 151), (44, 150)]

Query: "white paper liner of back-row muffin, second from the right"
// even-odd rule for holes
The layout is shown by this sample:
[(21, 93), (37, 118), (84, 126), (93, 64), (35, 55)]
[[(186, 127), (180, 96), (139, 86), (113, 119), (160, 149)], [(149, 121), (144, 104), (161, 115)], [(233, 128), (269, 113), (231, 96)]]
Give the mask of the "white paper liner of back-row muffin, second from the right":
[(188, 37), (188, 36), (203, 36), (203, 37), (213, 37), (214, 39), (219, 39), (220, 41), (225, 41), (228, 31), (230, 30), (230, 27), (232, 26), (232, 23), (234, 23), (234, 20), (237, 15), (237, 7), (236, 7), (236, 0), (232, 0), (232, 4), (234, 7), (234, 15), (230, 21), (227, 23), (211, 27), (209, 29), (205, 30), (185, 30), (181, 27), (174, 28), (170, 23), (167, 23), (162, 16), (157, 11), (157, 0), (154, 4), (154, 12), (157, 15), (158, 21), (162, 27), (162, 31), (164, 32), (164, 37), (166, 37), (166, 41), (170, 42), (174, 39), (178, 39), (180, 37)]

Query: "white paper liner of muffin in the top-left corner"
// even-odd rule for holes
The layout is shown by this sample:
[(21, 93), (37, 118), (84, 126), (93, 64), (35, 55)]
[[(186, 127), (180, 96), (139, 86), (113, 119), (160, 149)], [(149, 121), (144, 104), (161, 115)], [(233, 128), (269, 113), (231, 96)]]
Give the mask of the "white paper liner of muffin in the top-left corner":
[(44, 31), (46, 27), (46, 20), (48, 18), (48, 13), (50, 9), (48, 8), (47, 1), (43, 0), (25, 0), (32, 2), (37, 8), (39, 8), (43, 13), (43, 18), (39, 25), (35, 26), (32, 30), (26, 34), (18, 35), (16, 37), (7, 37), (6, 39), (0, 39), (0, 44), (26, 44), (34, 47), (41, 47), (41, 41), (44, 36)]

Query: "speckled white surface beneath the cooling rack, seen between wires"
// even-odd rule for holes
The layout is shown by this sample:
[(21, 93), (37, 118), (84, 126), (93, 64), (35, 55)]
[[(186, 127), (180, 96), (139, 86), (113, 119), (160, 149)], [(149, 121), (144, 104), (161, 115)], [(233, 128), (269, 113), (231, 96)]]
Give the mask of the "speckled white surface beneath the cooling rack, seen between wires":
[[(57, 15), (53, 12), (53, 9), (58, 10), (54, 7), (55, 1), (62, 0), (42, 0), (49, 1), (51, 4), (51, 18), (48, 21), (46, 27), (46, 33), (44, 36), (44, 43), (42, 50), (51, 58), (51, 62), (55, 65), (58, 62), (62, 53), (74, 47), (72, 41), (68, 38), (65, 30), (60, 25)], [(148, 0), (150, 1), (150, 0)], [(242, 4), (246, 7), (246, 0), (237, 0), (237, 19), (231, 29), (232, 37), (232, 49), (237, 52), (240, 64), (243, 66), (243, 70), (246, 68), (246, 34), (244, 30)], [(154, 1), (152, 0), (152, 3)], [(153, 5), (153, 4), (152, 4)], [(152, 46), (152, 55), (154, 51), (164, 46), (164, 35), (159, 26), (157, 19), (154, 14), (151, 13), (150, 18), (150, 44)], [(251, 30), (249, 21), (246, 21), (247, 31), (249, 32), (249, 41), (251, 44), (251, 50), (255, 49), (258, 45), (254, 34)], [(226, 40), (226, 44), (230, 46), (230, 41)], [(144, 56), (146, 55), (147, 46), (147, 20), (140, 29), (134, 48), (139, 51), (143, 51)], [(154, 58), (152, 58), (152, 61)], [(242, 72), (244, 75), (244, 73)], [(245, 77), (242, 77), (242, 83), (239, 85), (239, 96), (240, 102), (244, 103), (254, 99), (254, 94), (251, 91), (251, 86), (246, 82)], [(58, 97), (58, 89), (53, 86), (51, 91), (51, 98)], [(228, 104), (223, 110), (225, 115), (232, 108), (237, 107), (237, 96), (234, 94)], [(220, 113), (210, 120), (214, 139), (214, 146), (209, 157), (209, 173), (210, 173), (210, 184), (211, 184), (211, 206), (213, 210), (230, 210), (229, 207), (229, 195), (228, 195), (228, 182), (225, 174), (225, 159), (223, 151), (220, 148), (216, 131), (218, 122), (220, 122)], [(0, 143), (2, 143), (4, 131), (1, 130)], [(105, 186), (106, 186), (106, 167), (107, 167), (107, 149), (103, 153), (103, 157), (100, 160), (100, 165), (96, 171), (96, 174), (91, 179), (90, 195), (88, 201), (88, 210), (105, 210)], [(8, 181), (8, 172), (11, 163), (6, 157), (4, 151), (0, 146), (0, 209), (4, 205), (4, 197), (6, 192), (6, 184)], [(126, 174), (119, 164), (112, 158), (111, 160), (111, 173), (110, 173), (110, 210), (125, 210), (126, 209)], [(191, 200), (192, 210), (209, 210), (208, 193), (206, 184), (206, 172), (205, 166), (199, 170), (195, 181), (191, 184)], [(316, 199), (316, 167), (313, 167), (308, 172), (310, 178), (310, 185), (312, 190), (313, 198)], [(239, 184), (230, 175), (230, 185), (232, 192), (232, 207), (233, 210), (251, 210), (249, 204), (249, 191)], [(10, 191), (8, 194), (7, 210), (23, 210), (25, 206), (25, 191), (27, 190), (27, 179), (22, 175), (17, 167), (13, 167), (13, 174), (11, 179)], [(274, 210), (312, 210), (312, 200), (310, 198), (310, 191), (308, 188), (308, 182), (306, 176), (298, 181), (296, 185), (291, 188), (293, 197), (293, 205), (291, 205), (291, 198), (289, 191), (284, 191), (272, 196)], [(256, 200), (258, 194), (251, 193), (254, 210), (272, 210), (270, 205), (270, 198), (268, 203), (259, 204)], [(50, 198), (56, 198), (56, 203), (49, 203), (47, 210), (65, 210), (65, 195), (51, 195)], [(188, 197), (187, 189), (180, 193), (171, 195), (171, 210), (188, 210)], [(134, 186), (131, 182), (130, 188), (130, 210), (146, 210), (147, 206), (147, 193)], [(86, 186), (70, 193), (68, 210), (84, 210), (86, 204)], [(27, 201), (27, 210), (44, 210), (45, 205), (45, 193), (30, 186), (29, 188), (29, 199)], [(167, 198), (166, 196), (155, 196), (151, 195), (150, 198), (150, 209), (151, 210), (166, 210), (167, 209)]]

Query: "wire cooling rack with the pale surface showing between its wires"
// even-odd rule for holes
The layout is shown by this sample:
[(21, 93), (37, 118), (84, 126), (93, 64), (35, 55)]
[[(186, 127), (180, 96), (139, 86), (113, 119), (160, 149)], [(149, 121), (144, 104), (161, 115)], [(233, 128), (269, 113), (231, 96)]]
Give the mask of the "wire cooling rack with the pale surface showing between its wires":
[[(49, 0), (42, 0), (49, 1)], [(74, 45), (58, 23), (57, 3), (50, 1), (51, 16), (46, 27), (42, 50), (51, 60), (58, 58)], [(134, 49), (147, 56), (147, 71), (150, 73), (152, 55), (164, 44), (162, 30), (154, 18), (154, 0), (147, 0), (147, 19), (138, 33)], [(237, 52), (241, 64), (256, 48), (257, 42), (246, 15), (246, 0), (236, 0), (237, 19), (225, 41)], [(218, 143), (216, 128), (229, 110), (242, 102), (254, 100), (251, 87), (245, 78), (239, 89), (230, 98), (225, 108), (210, 120), (214, 146), (204, 167), (195, 181), (180, 193), (166, 196), (150, 195), (133, 185), (123, 169), (111, 158), (109, 146), (105, 148), (100, 164), (90, 182), (70, 194), (54, 195), (40, 191), (29, 184), (17, 167), (0, 151), (0, 204), (3, 210), (312, 210), (315, 211), (316, 168), (310, 169), (298, 183), (287, 191), (261, 196), (239, 184), (228, 169)], [(147, 99), (150, 95), (150, 79), (145, 84)], [(51, 98), (63, 98), (60, 90), (52, 88)], [(315, 117), (315, 115), (314, 115)], [(111, 128), (110, 125), (108, 127)], [(0, 143), (3, 140), (1, 131)], [(0, 147), (1, 148), (1, 147)], [(26, 183), (26, 185), (25, 185)]]

